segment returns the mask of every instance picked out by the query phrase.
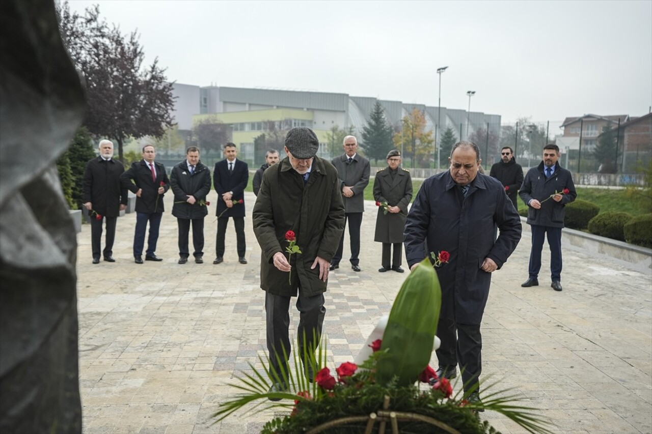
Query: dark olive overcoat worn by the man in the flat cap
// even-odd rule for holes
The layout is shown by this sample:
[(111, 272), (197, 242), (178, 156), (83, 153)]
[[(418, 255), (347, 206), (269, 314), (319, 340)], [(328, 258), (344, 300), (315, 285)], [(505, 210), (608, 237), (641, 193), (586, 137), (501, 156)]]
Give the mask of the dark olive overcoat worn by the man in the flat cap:
[[(316, 257), (331, 261), (344, 232), (344, 203), (335, 167), (315, 157), (308, 182), (292, 168), (286, 157), (263, 172), (263, 182), (253, 211), (254, 234), (260, 244), (260, 287), (271, 294), (294, 297), (318, 295), (327, 282), (319, 279), (319, 265), (310, 269)], [(277, 252), (285, 252), (287, 231), (296, 234), (301, 254), (290, 257), (288, 273), (274, 267)], [(287, 257), (287, 253), (284, 253)]]

